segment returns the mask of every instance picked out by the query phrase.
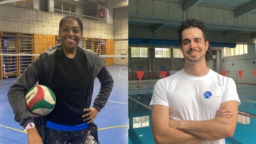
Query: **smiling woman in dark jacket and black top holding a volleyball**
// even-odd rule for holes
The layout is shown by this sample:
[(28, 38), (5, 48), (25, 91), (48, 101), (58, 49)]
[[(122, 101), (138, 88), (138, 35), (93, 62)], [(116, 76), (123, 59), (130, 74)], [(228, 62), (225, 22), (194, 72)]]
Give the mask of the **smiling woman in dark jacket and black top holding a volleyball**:
[[(99, 55), (78, 46), (82, 36), (83, 24), (78, 17), (62, 18), (59, 29), (62, 44), (43, 52), (8, 92), (14, 119), (27, 130), (29, 144), (99, 142), (93, 120), (106, 105), (114, 81)], [(101, 88), (90, 108), (96, 77)], [(54, 109), (43, 117), (34, 117), (25, 104), (24, 94), (37, 81), (56, 96)]]

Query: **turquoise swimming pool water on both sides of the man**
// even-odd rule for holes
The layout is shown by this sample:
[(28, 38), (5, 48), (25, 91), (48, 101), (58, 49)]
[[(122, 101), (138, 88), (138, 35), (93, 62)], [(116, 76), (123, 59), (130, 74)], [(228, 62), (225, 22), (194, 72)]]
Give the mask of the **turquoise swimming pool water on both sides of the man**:
[[(256, 86), (236, 85), (241, 104), (238, 106), (238, 122), (232, 138), (226, 144), (252, 144), (256, 137)], [(151, 109), (148, 107), (154, 90), (153, 85), (141, 89), (129, 87), (129, 144), (154, 144), (151, 131)]]

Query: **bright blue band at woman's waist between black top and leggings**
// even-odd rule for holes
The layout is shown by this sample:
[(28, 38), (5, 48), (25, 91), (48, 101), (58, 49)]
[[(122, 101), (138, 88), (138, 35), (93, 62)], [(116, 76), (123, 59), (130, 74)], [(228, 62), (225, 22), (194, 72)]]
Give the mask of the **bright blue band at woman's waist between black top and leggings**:
[(62, 124), (55, 124), (52, 122), (47, 121), (46, 127), (58, 131), (78, 131), (88, 128), (87, 122), (79, 125), (62, 125)]

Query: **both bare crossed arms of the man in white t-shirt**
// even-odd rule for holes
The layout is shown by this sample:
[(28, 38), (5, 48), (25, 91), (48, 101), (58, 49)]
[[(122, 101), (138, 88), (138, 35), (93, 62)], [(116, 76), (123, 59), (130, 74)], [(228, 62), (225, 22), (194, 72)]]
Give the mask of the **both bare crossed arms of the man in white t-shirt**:
[(152, 132), (155, 142), (156, 144), (196, 144), (205, 140), (220, 140), (230, 137), (235, 131), (237, 111), (237, 102), (232, 100), (222, 103), (216, 118), (212, 120), (175, 121), (169, 119), (168, 107), (153, 105)]

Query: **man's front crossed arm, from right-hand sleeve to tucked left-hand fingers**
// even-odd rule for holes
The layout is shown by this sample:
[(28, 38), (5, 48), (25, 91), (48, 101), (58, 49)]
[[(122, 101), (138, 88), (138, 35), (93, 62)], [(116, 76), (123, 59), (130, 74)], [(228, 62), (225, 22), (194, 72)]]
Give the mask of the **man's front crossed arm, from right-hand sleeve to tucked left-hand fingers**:
[(232, 137), (237, 122), (237, 101), (230, 100), (221, 104), (226, 109), (231, 109), (233, 115), (229, 117), (216, 117), (206, 121), (175, 121), (170, 119), (169, 126), (196, 135), (205, 140), (220, 140)]

